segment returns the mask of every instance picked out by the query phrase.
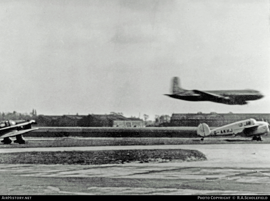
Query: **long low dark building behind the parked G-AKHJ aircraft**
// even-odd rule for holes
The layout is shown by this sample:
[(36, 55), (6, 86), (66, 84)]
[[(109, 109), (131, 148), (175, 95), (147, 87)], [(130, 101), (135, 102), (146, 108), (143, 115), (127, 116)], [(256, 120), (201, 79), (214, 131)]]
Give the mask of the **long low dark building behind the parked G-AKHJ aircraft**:
[(253, 118), (257, 121), (270, 122), (270, 114), (267, 113), (210, 113), (210, 114), (173, 114), (171, 117), (171, 126), (198, 126), (200, 123), (207, 123), (210, 127), (224, 126), (229, 123), (244, 119)]

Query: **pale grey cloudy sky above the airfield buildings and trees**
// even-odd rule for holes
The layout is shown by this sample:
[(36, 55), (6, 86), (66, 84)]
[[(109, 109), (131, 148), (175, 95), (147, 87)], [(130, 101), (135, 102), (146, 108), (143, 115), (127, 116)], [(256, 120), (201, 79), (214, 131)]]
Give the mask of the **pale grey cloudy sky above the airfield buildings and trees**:
[[(269, 1), (0, 2), (0, 111), (270, 113)], [(189, 102), (197, 90), (256, 89), (247, 105)]]

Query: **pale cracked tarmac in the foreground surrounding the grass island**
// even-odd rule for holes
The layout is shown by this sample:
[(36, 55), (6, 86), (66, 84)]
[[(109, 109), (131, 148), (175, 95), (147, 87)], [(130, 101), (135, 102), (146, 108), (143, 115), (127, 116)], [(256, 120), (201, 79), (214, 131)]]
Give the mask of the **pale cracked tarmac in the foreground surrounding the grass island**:
[(0, 165), (2, 195), (269, 195), (269, 144), (0, 149), (28, 151), (195, 149), (198, 162)]

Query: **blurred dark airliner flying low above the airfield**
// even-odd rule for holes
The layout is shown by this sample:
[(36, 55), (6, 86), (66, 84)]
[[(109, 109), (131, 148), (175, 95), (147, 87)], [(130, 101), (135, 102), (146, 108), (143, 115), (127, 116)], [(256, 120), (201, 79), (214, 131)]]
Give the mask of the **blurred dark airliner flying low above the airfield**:
[(173, 94), (164, 95), (184, 101), (212, 101), (227, 105), (245, 105), (247, 104), (246, 101), (257, 100), (264, 97), (259, 91), (252, 89), (219, 91), (185, 90), (180, 87), (178, 80), (178, 77), (173, 78)]

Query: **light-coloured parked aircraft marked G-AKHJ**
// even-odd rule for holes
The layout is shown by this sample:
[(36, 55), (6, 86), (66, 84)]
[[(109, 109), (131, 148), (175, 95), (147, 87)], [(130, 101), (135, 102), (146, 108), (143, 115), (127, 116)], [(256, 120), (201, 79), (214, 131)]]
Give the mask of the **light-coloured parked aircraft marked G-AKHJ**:
[(203, 137), (211, 136), (241, 136), (252, 137), (252, 140), (261, 141), (261, 135), (270, 133), (270, 125), (268, 122), (256, 121), (255, 119), (247, 119), (234, 123), (230, 123), (219, 128), (210, 130), (206, 123), (201, 123), (197, 129), (197, 135)]

